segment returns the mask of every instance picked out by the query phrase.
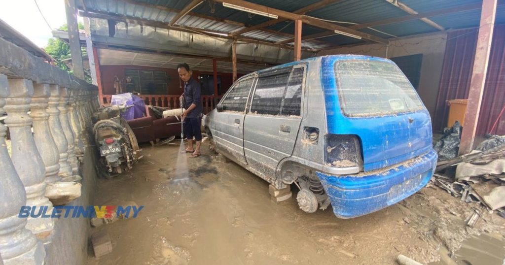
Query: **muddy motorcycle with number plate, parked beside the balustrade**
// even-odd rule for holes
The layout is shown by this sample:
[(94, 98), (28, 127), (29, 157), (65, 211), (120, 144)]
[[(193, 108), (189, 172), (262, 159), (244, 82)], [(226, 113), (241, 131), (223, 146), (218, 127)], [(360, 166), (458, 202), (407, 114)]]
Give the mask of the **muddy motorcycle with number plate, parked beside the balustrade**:
[(100, 158), (96, 166), (98, 176), (111, 179), (131, 170), (141, 156), (137, 139), (121, 113), (128, 107), (112, 106), (95, 114), (93, 126), (95, 144)]

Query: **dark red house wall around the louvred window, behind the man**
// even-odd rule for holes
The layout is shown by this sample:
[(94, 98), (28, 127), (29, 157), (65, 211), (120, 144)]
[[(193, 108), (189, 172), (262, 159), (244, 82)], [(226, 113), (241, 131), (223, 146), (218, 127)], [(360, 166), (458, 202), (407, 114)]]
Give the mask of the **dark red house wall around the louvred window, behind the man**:
[[(167, 76), (170, 78), (167, 94), (180, 95), (183, 93), (183, 88), (181, 88), (180, 85), (182, 85), (182, 87), (184, 87), (184, 85), (179, 84), (180, 79), (176, 69), (135, 65), (100, 65), (100, 74), (102, 74), (102, 87), (105, 95), (116, 93), (116, 90), (114, 89), (114, 77), (117, 76), (120, 80), (122, 80), (125, 77), (125, 69), (165, 71), (167, 73)], [(198, 78), (200, 74), (212, 75), (213, 73), (193, 70), (193, 78)], [(221, 83), (223, 88), (222, 90), (224, 93), (233, 83), (232, 74), (218, 72), (218, 75), (221, 76)]]

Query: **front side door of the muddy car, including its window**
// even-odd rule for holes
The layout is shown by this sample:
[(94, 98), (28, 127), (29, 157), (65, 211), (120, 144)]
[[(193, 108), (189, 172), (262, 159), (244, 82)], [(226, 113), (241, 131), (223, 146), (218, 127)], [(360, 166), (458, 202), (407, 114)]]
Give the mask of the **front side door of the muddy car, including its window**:
[(219, 102), (220, 111), (212, 121), (217, 151), (243, 164), (247, 164), (243, 146), (245, 106), (254, 80), (254, 76), (238, 80)]

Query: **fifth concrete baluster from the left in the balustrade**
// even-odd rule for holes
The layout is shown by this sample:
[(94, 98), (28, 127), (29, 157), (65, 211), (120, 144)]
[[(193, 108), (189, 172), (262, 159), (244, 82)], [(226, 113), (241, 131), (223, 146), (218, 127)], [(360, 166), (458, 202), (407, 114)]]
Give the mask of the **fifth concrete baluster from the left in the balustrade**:
[(68, 120), (68, 100), (68, 89), (66, 87), (60, 87), (60, 104), (58, 105), (58, 110), (60, 111), (60, 122), (62, 124), (63, 133), (67, 138), (68, 162), (72, 167), (73, 175), (77, 175), (79, 171), (79, 165), (77, 162), (77, 157), (75, 156), (74, 132), (72, 131), (70, 122)]

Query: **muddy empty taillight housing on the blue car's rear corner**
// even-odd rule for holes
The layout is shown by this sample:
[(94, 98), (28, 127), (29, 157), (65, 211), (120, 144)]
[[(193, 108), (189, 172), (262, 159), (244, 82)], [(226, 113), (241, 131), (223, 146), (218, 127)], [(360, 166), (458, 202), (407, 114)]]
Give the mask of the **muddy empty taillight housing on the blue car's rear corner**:
[(324, 151), (327, 166), (345, 168), (363, 164), (360, 141), (356, 135), (328, 134)]

